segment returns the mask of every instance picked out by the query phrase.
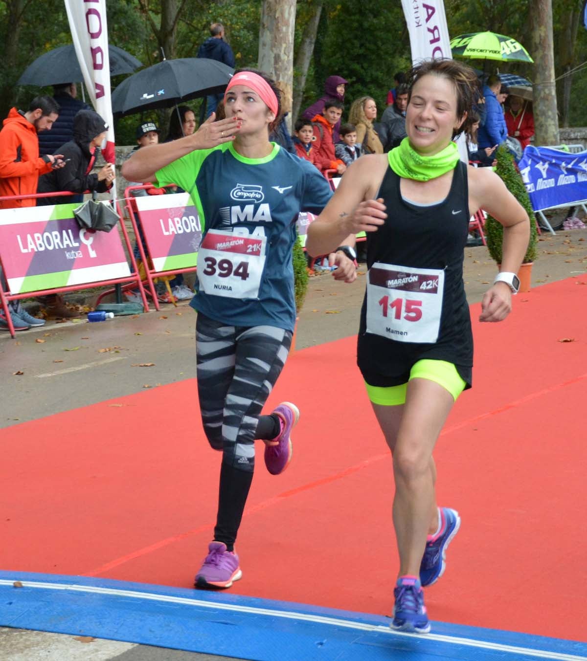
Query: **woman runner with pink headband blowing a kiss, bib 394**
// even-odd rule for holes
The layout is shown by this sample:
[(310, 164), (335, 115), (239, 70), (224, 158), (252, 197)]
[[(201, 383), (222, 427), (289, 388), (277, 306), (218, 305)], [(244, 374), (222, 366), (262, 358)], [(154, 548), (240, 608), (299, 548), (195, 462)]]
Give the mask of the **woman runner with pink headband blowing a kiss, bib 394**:
[[(190, 193), (204, 225), (192, 307), (198, 311), (198, 397), (210, 445), (222, 452), (214, 541), (197, 587), (229, 588), (241, 578), (234, 544), (253, 480), (254, 441), (266, 444), (273, 475), (292, 457), (292, 403), (262, 407), (284, 366), (295, 323), (292, 247), (301, 211), (321, 212), (331, 197), (311, 163), (268, 139), (281, 114), (280, 93), (263, 73), (241, 70), (214, 114), (192, 136), (143, 147), (126, 161), (130, 180)], [(341, 245), (352, 244), (344, 237)], [(355, 264), (329, 254), (336, 280), (352, 282)]]

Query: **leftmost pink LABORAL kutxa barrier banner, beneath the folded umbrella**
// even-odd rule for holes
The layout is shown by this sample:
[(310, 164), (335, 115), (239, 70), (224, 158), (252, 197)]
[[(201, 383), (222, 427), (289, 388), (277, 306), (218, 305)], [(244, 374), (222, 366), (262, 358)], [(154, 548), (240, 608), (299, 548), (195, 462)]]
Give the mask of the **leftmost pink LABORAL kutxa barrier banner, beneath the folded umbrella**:
[(0, 210), (0, 254), (11, 293), (130, 276), (118, 229), (90, 233), (77, 204)]

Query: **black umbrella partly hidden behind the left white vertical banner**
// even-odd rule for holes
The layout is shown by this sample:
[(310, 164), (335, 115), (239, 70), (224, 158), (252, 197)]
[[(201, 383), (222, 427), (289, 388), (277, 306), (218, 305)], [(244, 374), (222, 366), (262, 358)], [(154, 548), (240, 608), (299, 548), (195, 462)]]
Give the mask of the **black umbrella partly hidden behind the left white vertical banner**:
[[(118, 46), (108, 46), (110, 57), (110, 75), (132, 73), (142, 66), (142, 63)], [(44, 53), (32, 64), (26, 67), (17, 85), (65, 85), (65, 83), (81, 83), (83, 75), (79, 68), (77, 55), (73, 44), (59, 46)]]

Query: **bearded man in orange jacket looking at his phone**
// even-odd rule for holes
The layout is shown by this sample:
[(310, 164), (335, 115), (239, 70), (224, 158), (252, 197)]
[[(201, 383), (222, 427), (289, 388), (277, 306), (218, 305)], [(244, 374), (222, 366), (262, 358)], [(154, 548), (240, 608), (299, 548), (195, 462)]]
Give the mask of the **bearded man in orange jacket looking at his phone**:
[[(39, 156), (37, 134), (48, 131), (59, 116), (52, 97), (35, 97), (26, 112), (12, 108), (0, 131), (0, 197), (30, 195), (37, 191), (40, 175), (63, 167), (61, 154)], [(0, 209), (36, 206), (36, 199), (0, 200)]]

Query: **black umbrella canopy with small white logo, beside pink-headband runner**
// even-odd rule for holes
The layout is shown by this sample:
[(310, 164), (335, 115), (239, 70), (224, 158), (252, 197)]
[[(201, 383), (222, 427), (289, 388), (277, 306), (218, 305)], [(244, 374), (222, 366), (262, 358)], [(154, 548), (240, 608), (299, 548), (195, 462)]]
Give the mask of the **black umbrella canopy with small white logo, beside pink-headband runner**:
[(112, 112), (123, 117), (217, 94), (225, 89), (233, 71), (215, 59), (165, 59), (122, 81), (112, 93)]

